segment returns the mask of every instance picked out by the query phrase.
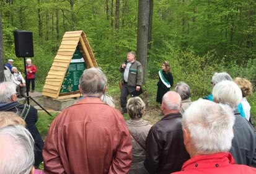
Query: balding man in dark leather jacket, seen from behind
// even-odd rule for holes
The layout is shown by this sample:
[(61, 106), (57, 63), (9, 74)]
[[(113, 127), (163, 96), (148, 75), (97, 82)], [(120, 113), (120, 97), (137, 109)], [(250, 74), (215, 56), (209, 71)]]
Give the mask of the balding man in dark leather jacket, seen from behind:
[(164, 118), (149, 131), (146, 139), (146, 160), (144, 167), (151, 174), (177, 172), (189, 155), (183, 144), (181, 98), (174, 91), (162, 97)]

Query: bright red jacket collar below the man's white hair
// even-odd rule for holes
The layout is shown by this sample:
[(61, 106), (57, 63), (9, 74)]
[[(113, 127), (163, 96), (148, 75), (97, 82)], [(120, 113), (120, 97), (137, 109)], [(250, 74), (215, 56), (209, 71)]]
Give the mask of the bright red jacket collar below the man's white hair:
[(229, 152), (220, 152), (211, 155), (195, 155), (182, 166), (182, 171), (192, 168), (216, 168), (235, 164), (235, 160)]

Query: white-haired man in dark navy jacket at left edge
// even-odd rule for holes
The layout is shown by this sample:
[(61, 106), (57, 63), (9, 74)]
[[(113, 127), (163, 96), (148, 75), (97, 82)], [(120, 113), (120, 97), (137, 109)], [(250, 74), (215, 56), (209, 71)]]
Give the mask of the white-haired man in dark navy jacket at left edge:
[(12, 111), (25, 120), (27, 129), (35, 141), (35, 166), (38, 167), (43, 161), (43, 139), (35, 126), (38, 120), (37, 110), (31, 105), (27, 106), (17, 102), (16, 85), (13, 82), (0, 84), (0, 111)]

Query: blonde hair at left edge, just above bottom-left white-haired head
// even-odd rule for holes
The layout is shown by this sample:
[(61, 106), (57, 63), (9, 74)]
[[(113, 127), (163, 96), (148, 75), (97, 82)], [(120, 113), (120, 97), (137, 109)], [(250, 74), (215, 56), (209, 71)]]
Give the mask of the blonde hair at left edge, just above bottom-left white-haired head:
[(25, 121), (16, 113), (11, 111), (0, 111), (0, 128), (5, 126), (22, 125), (25, 126)]

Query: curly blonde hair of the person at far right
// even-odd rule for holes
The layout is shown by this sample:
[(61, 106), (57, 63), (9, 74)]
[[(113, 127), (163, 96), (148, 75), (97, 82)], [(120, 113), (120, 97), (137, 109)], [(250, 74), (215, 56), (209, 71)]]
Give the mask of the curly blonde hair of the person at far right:
[(242, 97), (247, 97), (248, 95), (252, 94), (253, 87), (252, 87), (252, 84), (249, 80), (244, 79), (244, 78), (240, 78), (240, 77), (236, 77), (236, 79), (234, 79), (234, 82), (242, 90)]

